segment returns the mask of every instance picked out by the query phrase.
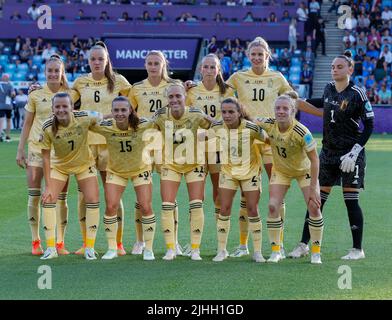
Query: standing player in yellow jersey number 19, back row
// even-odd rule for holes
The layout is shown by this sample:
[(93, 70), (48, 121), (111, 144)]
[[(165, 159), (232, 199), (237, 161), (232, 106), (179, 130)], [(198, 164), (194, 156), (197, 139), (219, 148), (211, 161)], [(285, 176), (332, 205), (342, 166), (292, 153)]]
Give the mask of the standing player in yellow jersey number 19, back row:
[[(186, 105), (203, 110), (215, 121), (221, 120), (221, 102), (227, 97), (234, 96), (234, 90), (224, 82), (220, 61), (215, 54), (208, 54), (202, 59), (200, 72), (202, 81), (188, 90)], [(220, 166), (217, 161), (213, 164), (208, 164), (208, 172), (210, 173), (213, 187), (212, 196), (216, 218), (218, 218), (220, 211), (218, 200), (219, 171)]]

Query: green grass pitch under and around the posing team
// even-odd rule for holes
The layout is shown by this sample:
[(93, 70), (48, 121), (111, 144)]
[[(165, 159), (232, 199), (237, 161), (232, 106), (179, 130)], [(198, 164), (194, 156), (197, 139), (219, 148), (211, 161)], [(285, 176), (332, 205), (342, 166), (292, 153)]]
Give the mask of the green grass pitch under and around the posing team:
[[(317, 136), (319, 140), (319, 135)], [(319, 143), (320, 144), (320, 143)], [(145, 262), (141, 256), (126, 255), (112, 261), (86, 261), (70, 255), (42, 261), (30, 254), (30, 230), (27, 223), (27, 188), (25, 172), (15, 163), (17, 135), (9, 144), (0, 144), (0, 299), (391, 299), (392, 194), (390, 169), (391, 136), (374, 135), (367, 147), (366, 190), (360, 201), (365, 216), (364, 249), (366, 259), (345, 262), (340, 259), (351, 247), (351, 234), (340, 188), (335, 187), (325, 206), (325, 231), (322, 265), (311, 265), (309, 258), (286, 259), (279, 264), (256, 264), (250, 257), (214, 263), (216, 248), (211, 184), (206, 188), (205, 229), (201, 247), (203, 261), (178, 257), (163, 261), (163, 236), (159, 224), (159, 180), (154, 176), (154, 211), (158, 217), (154, 244), (156, 260)], [(260, 212), (263, 221), (263, 254), (270, 247), (266, 230), (268, 188), (263, 179)], [(101, 193), (102, 195), (102, 193)], [(76, 250), (81, 245), (77, 222), (76, 183), (72, 178), (69, 191), (69, 225), (66, 246)], [(124, 204), (126, 224), (124, 244), (129, 252), (135, 239), (133, 223), (134, 192), (128, 186)], [(103, 197), (101, 198), (103, 199)], [(178, 195), (181, 244), (189, 242), (188, 196), (184, 185)], [(101, 201), (101, 216), (104, 210)], [(285, 247), (291, 250), (300, 238), (305, 205), (293, 183), (287, 199)], [(238, 195), (232, 213), (229, 250), (238, 243)], [(131, 215), (132, 212), (132, 215)], [(101, 227), (96, 250), (106, 251)], [(41, 237), (44, 239), (41, 228)], [(40, 290), (38, 268), (52, 269), (52, 289)], [(352, 289), (339, 289), (339, 267), (351, 269)], [(347, 273), (345, 273), (347, 275)], [(341, 280), (342, 281), (342, 280)], [(347, 282), (345, 282), (347, 284)]]

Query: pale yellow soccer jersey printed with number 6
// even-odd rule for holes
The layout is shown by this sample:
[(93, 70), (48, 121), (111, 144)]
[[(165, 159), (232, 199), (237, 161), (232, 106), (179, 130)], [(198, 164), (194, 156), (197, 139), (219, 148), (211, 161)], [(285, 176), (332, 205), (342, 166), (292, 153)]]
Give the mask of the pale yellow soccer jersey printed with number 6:
[[(110, 93), (107, 89), (108, 79), (96, 81), (91, 73), (81, 75), (74, 84), (80, 95), (80, 110), (98, 111), (102, 114), (109, 114), (112, 110), (112, 101), (119, 95), (128, 96), (131, 85), (122, 75), (116, 74), (114, 90)], [(105, 144), (105, 138), (99, 134), (89, 134), (89, 144)]]

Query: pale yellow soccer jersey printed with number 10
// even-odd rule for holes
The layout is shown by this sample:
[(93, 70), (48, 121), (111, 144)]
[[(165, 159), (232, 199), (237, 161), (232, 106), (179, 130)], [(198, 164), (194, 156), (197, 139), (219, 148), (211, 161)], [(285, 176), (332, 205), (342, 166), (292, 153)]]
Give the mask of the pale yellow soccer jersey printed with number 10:
[(227, 80), (227, 84), (235, 88), (238, 100), (252, 118), (273, 117), (276, 98), (293, 91), (280, 72), (269, 69), (262, 75), (255, 74), (252, 69), (238, 71)]

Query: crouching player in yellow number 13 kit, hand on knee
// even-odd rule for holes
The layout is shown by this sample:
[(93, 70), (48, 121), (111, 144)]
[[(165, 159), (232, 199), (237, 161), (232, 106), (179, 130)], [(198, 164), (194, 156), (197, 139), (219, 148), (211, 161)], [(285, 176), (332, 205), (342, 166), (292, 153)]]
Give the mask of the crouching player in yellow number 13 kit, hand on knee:
[[(296, 93), (293, 93), (296, 99)], [(321, 263), (320, 247), (324, 223), (320, 211), (319, 159), (316, 141), (309, 130), (295, 120), (295, 112), (295, 100), (291, 95), (285, 94), (276, 99), (274, 118), (255, 120), (255, 123), (268, 133), (273, 156), (267, 218), (272, 254), (267, 261), (276, 263), (282, 259), (280, 253), (282, 219), (279, 216), (279, 207), (290, 188), (291, 181), (295, 179), (302, 190), (310, 213), (308, 221), (312, 239), (311, 263)]]

